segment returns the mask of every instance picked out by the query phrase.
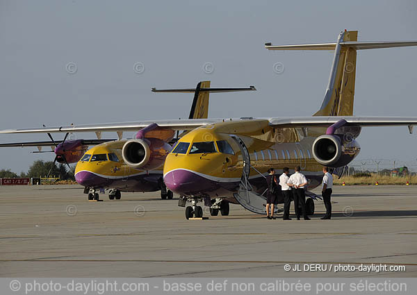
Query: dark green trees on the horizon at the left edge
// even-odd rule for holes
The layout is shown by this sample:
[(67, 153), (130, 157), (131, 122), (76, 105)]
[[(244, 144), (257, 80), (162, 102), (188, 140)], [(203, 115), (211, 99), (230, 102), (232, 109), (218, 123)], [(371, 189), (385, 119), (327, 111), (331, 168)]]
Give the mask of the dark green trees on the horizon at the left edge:
[(20, 174), (11, 171), (11, 169), (1, 169), (0, 178), (38, 178), (48, 176), (49, 173), (49, 177), (57, 177), (60, 180), (74, 180), (74, 174), (69, 170), (65, 164), (58, 163), (56, 165), (53, 161), (36, 160), (27, 172), (22, 171)]

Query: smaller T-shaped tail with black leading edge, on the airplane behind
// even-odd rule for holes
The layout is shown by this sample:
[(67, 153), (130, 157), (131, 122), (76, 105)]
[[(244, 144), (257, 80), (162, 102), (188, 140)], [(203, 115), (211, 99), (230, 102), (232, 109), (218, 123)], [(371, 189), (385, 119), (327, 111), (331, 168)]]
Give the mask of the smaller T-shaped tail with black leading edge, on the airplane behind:
[(210, 81), (202, 81), (195, 88), (183, 89), (156, 89), (152, 88), (152, 92), (194, 92), (193, 104), (191, 105), (190, 115), (188, 119), (207, 119), (208, 118), (208, 95), (210, 92), (236, 92), (236, 91), (256, 91), (254, 86), (248, 88), (210, 88)]

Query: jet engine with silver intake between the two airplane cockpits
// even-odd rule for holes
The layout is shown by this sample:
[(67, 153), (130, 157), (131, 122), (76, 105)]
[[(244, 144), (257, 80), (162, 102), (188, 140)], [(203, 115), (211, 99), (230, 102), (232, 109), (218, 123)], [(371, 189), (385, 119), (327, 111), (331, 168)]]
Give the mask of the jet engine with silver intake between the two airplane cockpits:
[(172, 146), (157, 138), (128, 140), (122, 148), (126, 165), (135, 169), (152, 170), (161, 167)]

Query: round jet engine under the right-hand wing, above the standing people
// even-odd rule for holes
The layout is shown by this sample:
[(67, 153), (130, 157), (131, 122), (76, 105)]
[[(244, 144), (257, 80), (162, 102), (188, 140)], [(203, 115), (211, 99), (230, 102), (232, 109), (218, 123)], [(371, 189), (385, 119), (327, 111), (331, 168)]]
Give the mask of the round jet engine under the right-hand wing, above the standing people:
[(320, 165), (343, 167), (359, 154), (359, 143), (350, 136), (321, 135), (313, 142), (313, 157)]

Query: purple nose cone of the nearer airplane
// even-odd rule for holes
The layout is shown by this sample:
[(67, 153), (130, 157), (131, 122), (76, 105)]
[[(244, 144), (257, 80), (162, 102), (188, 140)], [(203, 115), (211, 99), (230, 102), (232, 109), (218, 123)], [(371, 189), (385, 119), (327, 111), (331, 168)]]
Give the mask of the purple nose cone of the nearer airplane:
[(193, 194), (211, 189), (215, 185), (213, 181), (183, 169), (168, 172), (163, 180), (167, 188), (177, 194)]

